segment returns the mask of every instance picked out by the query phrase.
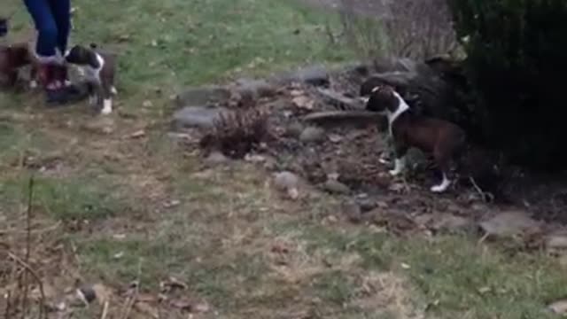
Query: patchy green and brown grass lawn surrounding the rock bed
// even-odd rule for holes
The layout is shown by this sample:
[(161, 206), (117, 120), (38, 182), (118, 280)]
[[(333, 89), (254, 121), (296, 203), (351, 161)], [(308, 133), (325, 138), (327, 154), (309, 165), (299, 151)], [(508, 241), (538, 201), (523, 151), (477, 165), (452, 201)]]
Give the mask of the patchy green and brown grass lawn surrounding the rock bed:
[[(17, 11), (11, 38), (30, 35), (21, 2), (3, 1)], [(120, 53), (119, 112), (0, 93), (0, 224), (18, 247), (27, 177), (43, 167), (34, 240), (46, 281), (140, 279), (157, 293), (175, 276), (215, 318), (553, 318), (545, 306), (567, 295), (567, 277), (543, 253), (336, 222), (336, 198), (284, 200), (256, 167), (206, 167), (167, 137), (169, 97), (187, 85), (353, 58), (328, 41), (336, 16), (283, 0), (73, 3), (73, 42)]]

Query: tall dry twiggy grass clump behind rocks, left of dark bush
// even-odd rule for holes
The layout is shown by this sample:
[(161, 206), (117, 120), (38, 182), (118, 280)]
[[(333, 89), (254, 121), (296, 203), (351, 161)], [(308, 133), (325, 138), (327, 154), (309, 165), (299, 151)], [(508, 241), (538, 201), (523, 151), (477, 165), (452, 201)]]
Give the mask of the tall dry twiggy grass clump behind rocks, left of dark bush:
[(341, 12), (347, 41), (363, 58), (425, 60), (458, 49), (447, 0), (384, 1), (370, 17), (343, 0)]

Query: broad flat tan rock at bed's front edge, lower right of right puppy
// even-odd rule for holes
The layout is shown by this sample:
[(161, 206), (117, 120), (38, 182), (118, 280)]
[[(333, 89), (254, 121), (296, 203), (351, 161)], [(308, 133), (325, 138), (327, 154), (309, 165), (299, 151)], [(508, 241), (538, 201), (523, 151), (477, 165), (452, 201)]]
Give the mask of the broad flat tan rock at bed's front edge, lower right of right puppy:
[(524, 211), (502, 212), (479, 223), (488, 236), (511, 237), (524, 232), (540, 230), (540, 223)]

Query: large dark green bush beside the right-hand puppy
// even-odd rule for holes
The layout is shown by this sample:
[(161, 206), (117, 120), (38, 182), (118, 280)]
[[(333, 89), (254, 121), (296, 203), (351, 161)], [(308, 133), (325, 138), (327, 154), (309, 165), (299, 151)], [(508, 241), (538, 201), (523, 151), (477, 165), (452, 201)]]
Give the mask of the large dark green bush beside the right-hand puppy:
[(467, 52), (473, 121), (486, 142), (532, 167), (567, 159), (567, 1), (448, 0)]

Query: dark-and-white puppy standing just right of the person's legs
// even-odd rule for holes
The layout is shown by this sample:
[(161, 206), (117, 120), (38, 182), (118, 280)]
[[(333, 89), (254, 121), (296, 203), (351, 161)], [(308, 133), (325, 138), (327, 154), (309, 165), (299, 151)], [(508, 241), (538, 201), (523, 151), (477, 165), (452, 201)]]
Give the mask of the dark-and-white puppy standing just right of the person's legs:
[(91, 85), (90, 104), (102, 105), (103, 114), (112, 113), (113, 95), (117, 93), (114, 87), (115, 58), (98, 52), (97, 45), (90, 44), (89, 48), (75, 45), (66, 52), (65, 59), (67, 63), (79, 66), (81, 73), (87, 77)]

